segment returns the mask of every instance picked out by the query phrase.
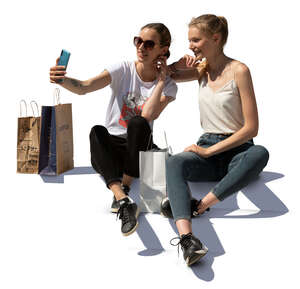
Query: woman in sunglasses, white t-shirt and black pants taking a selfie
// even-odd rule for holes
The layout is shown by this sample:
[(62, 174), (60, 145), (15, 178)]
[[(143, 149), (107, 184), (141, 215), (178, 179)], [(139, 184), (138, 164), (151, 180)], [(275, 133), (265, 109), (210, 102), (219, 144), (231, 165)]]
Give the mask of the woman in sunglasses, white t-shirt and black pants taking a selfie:
[(177, 93), (175, 82), (167, 76), (170, 44), (168, 28), (162, 23), (150, 23), (134, 37), (136, 61), (106, 67), (100, 75), (86, 81), (66, 77), (63, 66), (56, 64), (50, 69), (51, 82), (76, 94), (107, 85), (112, 89), (105, 126), (96, 125), (90, 132), (91, 163), (114, 194), (111, 211), (119, 214), (125, 236), (138, 226), (139, 210), (128, 193), (133, 178), (139, 177), (139, 151), (149, 149), (149, 144), (155, 146), (153, 121)]

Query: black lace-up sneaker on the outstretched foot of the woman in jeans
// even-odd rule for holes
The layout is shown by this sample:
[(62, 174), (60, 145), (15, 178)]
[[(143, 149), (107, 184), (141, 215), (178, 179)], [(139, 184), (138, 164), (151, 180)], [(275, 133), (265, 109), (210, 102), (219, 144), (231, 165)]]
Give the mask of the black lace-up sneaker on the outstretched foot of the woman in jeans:
[[(172, 244), (172, 241), (175, 239), (179, 239), (179, 242), (177, 244)], [(181, 237), (175, 237), (170, 241), (170, 244), (173, 246), (181, 245), (183, 258), (188, 266), (191, 266), (200, 260), (208, 251), (208, 249), (192, 233), (181, 235)]]

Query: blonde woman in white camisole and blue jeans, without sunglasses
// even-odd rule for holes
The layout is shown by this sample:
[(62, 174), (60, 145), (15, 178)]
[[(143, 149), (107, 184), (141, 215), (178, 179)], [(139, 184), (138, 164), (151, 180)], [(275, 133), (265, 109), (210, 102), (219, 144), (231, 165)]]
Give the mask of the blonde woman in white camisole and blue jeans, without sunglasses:
[[(167, 160), (168, 198), (162, 214), (174, 218), (186, 263), (203, 257), (207, 248), (192, 234), (191, 217), (239, 191), (266, 166), (268, 151), (254, 145), (258, 113), (249, 68), (227, 57), (223, 47), (227, 20), (215, 15), (193, 18), (189, 24), (189, 48), (169, 68), (177, 81), (198, 80), (200, 124), (204, 134), (197, 144)], [(198, 65), (198, 62), (202, 59)], [(218, 181), (200, 201), (191, 197), (188, 181)]]

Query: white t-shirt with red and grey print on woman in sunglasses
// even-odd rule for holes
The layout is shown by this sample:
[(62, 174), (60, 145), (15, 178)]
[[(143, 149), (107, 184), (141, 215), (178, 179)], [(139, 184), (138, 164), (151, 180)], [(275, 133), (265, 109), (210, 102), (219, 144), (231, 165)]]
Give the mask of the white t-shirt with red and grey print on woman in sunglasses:
[[(106, 112), (105, 126), (112, 135), (125, 135), (128, 121), (141, 115), (143, 106), (151, 96), (157, 80), (142, 81), (136, 72), (134, 61), (123, 61), (106, 68), (111, 76), (111, 99)], [(166, 78), (162, 94), (176, 98), (177, 85)], [(153, 121), (150, 123), (153, 128)]]

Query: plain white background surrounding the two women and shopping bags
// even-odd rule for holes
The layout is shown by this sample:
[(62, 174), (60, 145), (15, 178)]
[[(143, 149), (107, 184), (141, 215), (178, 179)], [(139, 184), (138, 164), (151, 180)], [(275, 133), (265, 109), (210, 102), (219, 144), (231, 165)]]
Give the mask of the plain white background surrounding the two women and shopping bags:
[[(300, 47), (296, 1), (6, 2), (0, 4), (0, 288), (297, 287)], [(111, 193), (96, 174), (66, 175), (59, 179), (63, 183), (16, 174), (16, 132), (21, 99), (53, 103), (55, 85), (49, 82), (49, 68), (62, 48), (72, 53), (68, 75), (84, 80), (108, 64), (135, 59), (132, 39), (139, 28), (163, 22), (173, 37), (172, 63), (189, 53), (190, 19), (205, 13), (227, 18), (225, 53), (251, 70), (260, 114), (256, 143), (270, 152), (265, 171), (283, 175), (266, 186), (289, 212), (271, 218), (263, 214), (226, 219), (216, 217), (218, 209), (212, 210), (194, 223), (211, 255), (190, 269), (169, 245), (176, 234), (168, 220), (158, 215), (142, 216), (138, 233), (121, 235), (119, 222), (108, 212)], [(175, 152), (195, 143), (201, 134), (196, 96), (196, 82), (179, 84), (177, 100), (155, 124), (158, 132), (167, 131)], [(89, 131), (104, 123), (109, 97), (109, 88), (84, 96), (61, 89), (62, 102), (73, 105), (76, 167), (90, 167)], [(245, 214), (255, 212), (243, 193), (238, 202)], [(214, 233), (209, 232), (212, 228)], [(214, 237), (207, 238), (206, 233)]]

